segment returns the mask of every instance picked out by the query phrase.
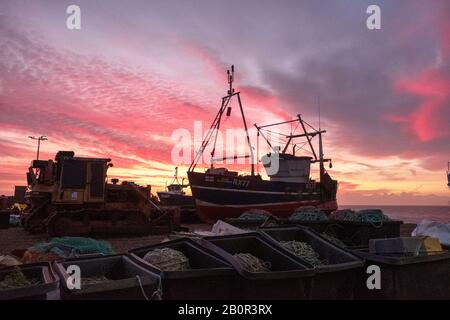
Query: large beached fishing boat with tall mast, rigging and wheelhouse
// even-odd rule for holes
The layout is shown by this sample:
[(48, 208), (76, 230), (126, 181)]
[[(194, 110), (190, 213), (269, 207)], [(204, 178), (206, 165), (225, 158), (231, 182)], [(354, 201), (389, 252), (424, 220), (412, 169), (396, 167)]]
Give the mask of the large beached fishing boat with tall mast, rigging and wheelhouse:
[[(325, 159), (322, 146), (322, 135), (326, 132), (320, 128), (316, 130), (301, 115), (293, 120), (258, 126), (255, 128), (259, 136), (270, 146), (270, 152), (261, 158), (269, 179), (263, 179), (255, 174), (254, 152), (250, 141), (247, 122), (242, 106), (240, 92), (233, 88), (234, 67), (227, 70), (229, 89), (227, 95), (222, 98), (221, 107), (214, 118), (210, 130), (207, 132), (198, 152), (188, 169), (188, 179), (195, 199), (197, 214), (205, 222), (214, 222), (218, 219), (236, 218), (250, 209), (262, 209), (273, 215), (286, 217), (293, 211), (303, 206), (315, 206), (326, 212), (337, 209), (337, 181), (333, 180), (325, 170), (324, 164), (331, 159)], [(214, 163), (215, 144), (217, 132), (224, 116), (231, 114), (231, 100), (237, 99), (240, 115), (246, 133), (246, 140), (250, 158), (250, 174), (240, 175), (237, 171), (227, 168), (216, 168)], [(284, 134), (286, 144), (275, 146), (268, 139), (271, 127), (297, 124), (301, 133)], [(313, 145), (313, 139), (318, 138), (319, 152)], [(311, 156), (296, 155), (299, 144), (294, 141), (302, 139), (310, 148)], [(213, 141), (211, 152), (211, 166), (204, 172), (195, 171), (198, 161), (205, 152), (206, 147)], [(258, 140), (259, 141), (259, 140)], [(259, 145), (259, 144), (258, 144)], [(292, 148), (290, 148), (292, 147)], [(291, 152), (289, 153), (288, 152)], [(259, 153), (259, 151), (257, 152)], [(258, 156), (258, 155), (257, 155)], [(237, 158), (237, 157), (235, 157)], [(226, 159), (226, 158), (223, 158)], [(274, 172), (273, 164), (278, 164), (278, 170)], [(312, 164), (319, 164), (319, 180), (311, 178)]]

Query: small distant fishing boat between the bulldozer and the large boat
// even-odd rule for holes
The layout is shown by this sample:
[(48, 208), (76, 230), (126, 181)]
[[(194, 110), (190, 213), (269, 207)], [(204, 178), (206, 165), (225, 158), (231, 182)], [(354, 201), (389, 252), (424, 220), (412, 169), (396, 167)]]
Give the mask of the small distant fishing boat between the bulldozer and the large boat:
[(181, 183), (178, 180), (178, 167), (175, 167), (175, 174), (172, 182), (166, 186), (166, 191), (157, 192), (159, 202), (163, 206), (177, 206), (182, 209), (194, 208), (194, 198), (187, 195), (184, 189), (189, 187), (188, 184), (183, 184), (184, 178)]

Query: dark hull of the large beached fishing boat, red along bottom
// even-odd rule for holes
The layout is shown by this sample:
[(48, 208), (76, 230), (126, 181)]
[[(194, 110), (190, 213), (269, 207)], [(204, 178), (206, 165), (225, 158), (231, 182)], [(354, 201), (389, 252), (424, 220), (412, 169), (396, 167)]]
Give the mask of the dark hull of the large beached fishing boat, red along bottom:
[(288, 217), (295, 209), (316, 206), (337, 209), (336, 193), (329, 194), (318, 182), (293, 183), (262, 180), (259, 176), (229, 176), (189, 172), (197, 214), (208, 223), (237, 218), (250, 209)]

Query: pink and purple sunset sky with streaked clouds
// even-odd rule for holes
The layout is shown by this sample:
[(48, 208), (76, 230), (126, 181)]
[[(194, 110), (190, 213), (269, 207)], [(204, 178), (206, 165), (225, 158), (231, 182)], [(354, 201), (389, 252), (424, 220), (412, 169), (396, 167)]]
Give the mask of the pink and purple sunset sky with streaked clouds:
[[(71, 4), (80, 30), (66, 27)], [(449, 12), (447, 0), (2, 0), (0, 194), (25, 183), (29, 135), (48, 136), (41, 159), (109, 157), (109, 177), (164, 188), (172, 133), (209, 126), (234, 64), (249, 124), (318, 126), (320, 97), (339, 203), (447, 205)]]

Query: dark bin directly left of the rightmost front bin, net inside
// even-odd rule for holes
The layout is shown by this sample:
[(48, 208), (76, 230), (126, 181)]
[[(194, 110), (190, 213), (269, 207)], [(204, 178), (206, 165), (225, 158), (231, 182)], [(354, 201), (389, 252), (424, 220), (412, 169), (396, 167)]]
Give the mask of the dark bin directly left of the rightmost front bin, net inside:
[[(364, 261), (341, 247), (301, 226), (260, 229), (263, 236), (285, 249), (281, 241), (301, 241), (312, 246), (321, 259), (329, 264), (316, 266), (311, 299), (353, 299), (354, 287)], [(292, 254), (297, 258), (296, 255)]]

